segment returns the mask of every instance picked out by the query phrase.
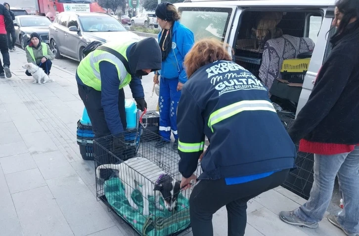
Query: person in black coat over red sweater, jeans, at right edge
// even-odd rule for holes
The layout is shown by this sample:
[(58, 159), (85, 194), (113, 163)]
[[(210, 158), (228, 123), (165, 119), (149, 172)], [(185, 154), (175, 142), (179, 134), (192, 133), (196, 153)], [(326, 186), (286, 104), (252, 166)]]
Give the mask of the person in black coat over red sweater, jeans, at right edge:
[(338, 0), (334, 14), (332, 52), (288, 131), (299, 151), (314, 153), (313, 187), (308, 202), (279, 217), (291, 225), (318, 227), (338, 175), (344, 209), (328, 220), (346, 235), (359, 236), (359, 0)]

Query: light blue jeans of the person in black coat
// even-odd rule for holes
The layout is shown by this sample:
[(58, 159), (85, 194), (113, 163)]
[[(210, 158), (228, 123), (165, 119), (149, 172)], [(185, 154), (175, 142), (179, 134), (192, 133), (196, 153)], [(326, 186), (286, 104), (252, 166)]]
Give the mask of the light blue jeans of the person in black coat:
[(349, 233), (359, 233), (359, 146), (350, 153), (314, 154), (311, 195), (308, 202), (295, 210), (295, 215), (308, 223), (321, 221), (333, 194), (336, 174), (344, 203), (339, 224)]

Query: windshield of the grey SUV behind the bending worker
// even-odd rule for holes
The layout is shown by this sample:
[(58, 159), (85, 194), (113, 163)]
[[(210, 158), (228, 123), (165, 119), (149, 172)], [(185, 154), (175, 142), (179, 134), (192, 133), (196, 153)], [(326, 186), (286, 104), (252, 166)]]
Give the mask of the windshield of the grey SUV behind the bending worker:
[(84, 32), (119, 32), (126, 28), (112, 16), (80, 16)]

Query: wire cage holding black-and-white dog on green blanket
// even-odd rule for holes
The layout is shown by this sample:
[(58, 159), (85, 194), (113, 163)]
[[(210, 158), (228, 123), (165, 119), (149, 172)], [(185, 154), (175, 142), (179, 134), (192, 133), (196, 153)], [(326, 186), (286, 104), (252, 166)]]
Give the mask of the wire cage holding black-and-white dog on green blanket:
[[(112, 135), (96, 139), (96, 196), (136, 234), (175, 236), (190, 231), (189, 196), (193, 185), (180, 189), (178, 152), (171, 143), (156, 148), (157, 140), (155, 133), (141, 136), (135, 156), (123, 161), (121, 157), (129, 151), (123, 140)], [(200, 172), (198, 165), (195, 174)]]

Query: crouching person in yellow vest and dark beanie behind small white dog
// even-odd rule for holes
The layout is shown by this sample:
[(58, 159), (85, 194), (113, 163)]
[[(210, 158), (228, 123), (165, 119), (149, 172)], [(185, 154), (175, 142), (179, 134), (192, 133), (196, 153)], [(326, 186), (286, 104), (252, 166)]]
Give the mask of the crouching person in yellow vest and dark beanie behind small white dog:
[[(47, 75), (50, 74), (50, 69), (52, 66), (51, 60), (55, 57), (50, 50), (50, 47), (41, 42), (41, 37), (37, 33), (30, 34), (29, 45), (26, 46), (26, 59), (28, 63), (33, 63), (38, 67), (42, 68)], [(31, 76), (31, 73), (26, 70), (26, 75)]]

